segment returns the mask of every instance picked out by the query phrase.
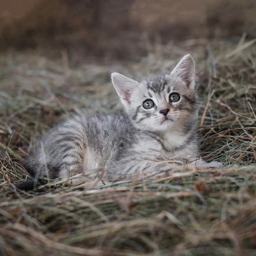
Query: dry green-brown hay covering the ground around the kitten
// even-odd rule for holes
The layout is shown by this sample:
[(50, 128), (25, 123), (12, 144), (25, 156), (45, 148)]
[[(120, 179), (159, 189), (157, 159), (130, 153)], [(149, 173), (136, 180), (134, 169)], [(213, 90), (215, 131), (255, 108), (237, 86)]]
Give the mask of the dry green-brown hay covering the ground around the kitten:
[[(1, 54), (0, 255), (256, 255), (256, 41), (147, 47), (137, 63), (76, 67), (65, 52)], [(117, 109), (112, 70), (140, 78), (188, 51), (202, 81), (202, 156), (225, 167), (87, 191), (58, 180), (15, 189), (38, 135), (74, 113)]]

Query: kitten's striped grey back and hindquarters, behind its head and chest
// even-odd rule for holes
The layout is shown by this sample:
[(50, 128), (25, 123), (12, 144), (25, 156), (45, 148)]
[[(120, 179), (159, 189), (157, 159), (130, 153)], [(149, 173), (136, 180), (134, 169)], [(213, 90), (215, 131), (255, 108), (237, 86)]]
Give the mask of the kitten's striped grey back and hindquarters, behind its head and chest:
[[(67, 177), (121, 159), (132, 148), (138, 131), (124, 114), (75, 116), (50, 129), (38, 140), (24, 163), (33, 176)], [(122, 148), (122, 150), (118, 150)], [(49, 170), (49, 173), (48, 173)]]

